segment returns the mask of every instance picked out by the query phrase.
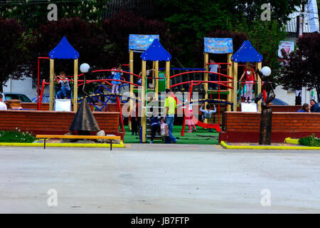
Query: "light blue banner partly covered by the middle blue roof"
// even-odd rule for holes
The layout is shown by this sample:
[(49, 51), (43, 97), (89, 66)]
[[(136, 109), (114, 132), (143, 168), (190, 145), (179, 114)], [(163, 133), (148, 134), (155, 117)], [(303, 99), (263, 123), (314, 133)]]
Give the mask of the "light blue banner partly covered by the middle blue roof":
[(159, 39), (159, 35), (129, 34), (129, 50), (146, 51), (155, 38)]

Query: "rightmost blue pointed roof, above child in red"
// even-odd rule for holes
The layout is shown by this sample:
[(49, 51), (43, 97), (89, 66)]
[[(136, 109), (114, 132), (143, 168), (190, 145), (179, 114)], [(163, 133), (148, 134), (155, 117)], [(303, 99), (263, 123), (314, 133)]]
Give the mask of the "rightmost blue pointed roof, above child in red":
[(235, 63), (246, 63), (246, 62), (262, 62), (262, 56), (258, 53), (255, 48), (252, 46), (250, 41), (243, 41), (242, 45), (236, 51), (233, 56), (231, 56), (231, 60)]

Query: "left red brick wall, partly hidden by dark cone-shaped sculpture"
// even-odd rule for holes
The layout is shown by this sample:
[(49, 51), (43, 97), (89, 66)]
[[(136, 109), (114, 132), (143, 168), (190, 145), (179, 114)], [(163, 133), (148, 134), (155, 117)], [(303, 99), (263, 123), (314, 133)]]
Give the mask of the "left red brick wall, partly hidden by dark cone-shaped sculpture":
[[(119, 133), (119, 112), (95, 112), (94, 115), (101, 130), (122, 135)], [(73, 112), (0, 110), (0, 130), (18, 128), (34, 134), (64, 134), (69, 132), (74, 117)]]

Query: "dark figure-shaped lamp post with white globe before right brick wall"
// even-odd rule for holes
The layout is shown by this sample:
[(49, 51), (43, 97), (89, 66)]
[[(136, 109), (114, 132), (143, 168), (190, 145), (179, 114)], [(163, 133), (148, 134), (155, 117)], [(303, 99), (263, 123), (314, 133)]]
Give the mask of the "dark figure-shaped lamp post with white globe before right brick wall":
[(263, 97), (263, 102), (261, 103), (262, 110), (260, 119), (259, 144), (271, 145), (272, 110), (269, 106), (269, 103), (275, 98), (272, 83), (269, 81), (271, 69), (267, 66), (264, 66), (261, 71), (257, 69), (257, 74), (263, 81), (262, 93), (257, 95), (257, 98), (255, 98), (255, 103), (257, 103)]

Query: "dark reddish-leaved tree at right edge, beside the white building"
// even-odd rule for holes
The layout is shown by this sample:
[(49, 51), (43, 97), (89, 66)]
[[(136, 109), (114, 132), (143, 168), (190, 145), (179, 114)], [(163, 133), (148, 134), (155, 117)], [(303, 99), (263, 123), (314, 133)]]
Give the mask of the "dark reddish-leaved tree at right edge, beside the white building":
[(316, 89), (320, 98), (320, 34), (308, 33), (297, 39), (297, 50), (282, 51), (283, 67), (278, 77), (284, 89)]

